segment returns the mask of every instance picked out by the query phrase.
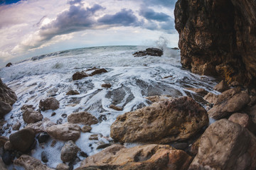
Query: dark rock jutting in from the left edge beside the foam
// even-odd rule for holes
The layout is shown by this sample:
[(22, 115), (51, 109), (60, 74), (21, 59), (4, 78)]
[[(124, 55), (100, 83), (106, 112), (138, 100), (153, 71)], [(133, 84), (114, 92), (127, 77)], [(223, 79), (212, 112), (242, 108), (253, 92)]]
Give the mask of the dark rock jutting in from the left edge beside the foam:
[(18, 100), (14, 91), (12, 91), (0, 79), (0, 118), (12, 110), (12, 105)]

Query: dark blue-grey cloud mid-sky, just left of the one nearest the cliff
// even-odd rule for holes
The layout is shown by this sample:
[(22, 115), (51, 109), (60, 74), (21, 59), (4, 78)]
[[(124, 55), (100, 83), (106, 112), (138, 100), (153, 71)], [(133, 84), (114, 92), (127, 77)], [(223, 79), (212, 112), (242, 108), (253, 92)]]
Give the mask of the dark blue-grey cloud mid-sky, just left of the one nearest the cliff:
[(134, 15), (132, 10), (122, 9), (114, 15), (105, 15), (98, 19), (99, 23), (106, 25), (119, 25), (119, 26), (139, 26), (137, 16)]

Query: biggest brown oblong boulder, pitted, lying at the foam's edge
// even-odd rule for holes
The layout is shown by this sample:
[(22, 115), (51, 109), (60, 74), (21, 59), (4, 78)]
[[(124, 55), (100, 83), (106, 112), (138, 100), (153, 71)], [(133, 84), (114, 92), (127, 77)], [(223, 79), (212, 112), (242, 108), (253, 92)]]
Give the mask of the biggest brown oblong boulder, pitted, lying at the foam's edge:
[(166, 144), (187, 140), (206, 125), (206, 110), (184, 96), (119, 115), (111, 125), (110, 136), (119, 142)]

